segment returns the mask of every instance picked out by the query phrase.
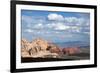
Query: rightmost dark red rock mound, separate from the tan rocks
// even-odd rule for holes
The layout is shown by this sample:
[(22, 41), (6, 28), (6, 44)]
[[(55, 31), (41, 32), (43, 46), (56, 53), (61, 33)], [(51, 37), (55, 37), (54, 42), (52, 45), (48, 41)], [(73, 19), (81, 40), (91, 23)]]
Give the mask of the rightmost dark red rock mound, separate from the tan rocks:
[(62, 50), (63, 54), (67, 54), (67, 55), (73, 55), (73, 54), (77, 54), (80, 52), (79, 48), (75, 47), (75, 48), (64, 48)]

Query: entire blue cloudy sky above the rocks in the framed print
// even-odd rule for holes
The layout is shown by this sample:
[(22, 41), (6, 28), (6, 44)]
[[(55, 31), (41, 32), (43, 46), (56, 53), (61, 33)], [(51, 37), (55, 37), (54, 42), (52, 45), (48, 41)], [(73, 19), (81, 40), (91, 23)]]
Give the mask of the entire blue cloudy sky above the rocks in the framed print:
[(51, 42), (90, 41), (90, 14), (21, 10), (22, 38)]

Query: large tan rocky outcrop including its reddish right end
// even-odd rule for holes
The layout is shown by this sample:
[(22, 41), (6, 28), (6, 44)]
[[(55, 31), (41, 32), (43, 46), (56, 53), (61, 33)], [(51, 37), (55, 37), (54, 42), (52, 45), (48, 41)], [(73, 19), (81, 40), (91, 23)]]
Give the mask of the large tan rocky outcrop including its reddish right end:
[(57, 58), (59, 57), (59, 48), (56, 45), (51, 45), (47, 41), (38, 38), (32, 42), (25, 39), (21, 41), (21, 56), (22, 57), (42, 57), (42, 58)]

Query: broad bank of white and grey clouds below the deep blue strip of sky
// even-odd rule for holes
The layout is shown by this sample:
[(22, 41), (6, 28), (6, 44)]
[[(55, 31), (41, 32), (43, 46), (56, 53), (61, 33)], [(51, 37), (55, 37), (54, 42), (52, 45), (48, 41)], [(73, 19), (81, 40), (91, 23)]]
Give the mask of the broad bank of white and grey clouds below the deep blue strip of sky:
[(89, 15), (84, 16), (84, 13), (77, 16), (66, 16), (56, 12), (37, 16), (22, 14), (22, 35), (41, 36), (53, 40), (61, 38), (61, 35), (64, 39), (72, 39), (75, 36), (75, 39), (82, 39), (89, 37), (89, 20)]

